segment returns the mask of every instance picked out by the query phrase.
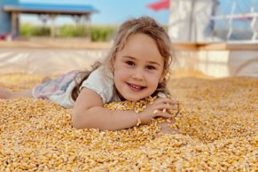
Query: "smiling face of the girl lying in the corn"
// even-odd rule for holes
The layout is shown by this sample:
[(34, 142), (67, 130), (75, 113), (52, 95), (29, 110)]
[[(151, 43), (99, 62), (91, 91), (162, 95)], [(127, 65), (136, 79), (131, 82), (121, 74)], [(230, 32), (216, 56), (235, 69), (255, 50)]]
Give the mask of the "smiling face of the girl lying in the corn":
[(129, 35), (114, 59), (114, 84), (121, 98), (135, 101), (151, 96), (162, 82), (164, 59), (149, 35)]

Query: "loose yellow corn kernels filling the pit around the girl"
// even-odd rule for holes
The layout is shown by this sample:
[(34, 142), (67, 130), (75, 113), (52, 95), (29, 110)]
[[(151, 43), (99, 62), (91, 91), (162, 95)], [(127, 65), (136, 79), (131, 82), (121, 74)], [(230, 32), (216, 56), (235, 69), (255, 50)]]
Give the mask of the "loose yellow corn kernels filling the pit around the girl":
[[(24, 90), (42, 79), (0, 74), (0, 88)], [(189, 77), (168, 85), (181, 103), (170, 135), (160, 133), (158, 120), (119, 131), (74, 129), (72, 111), (48, 100), (0, 99), (0, 171), (258, 170), (258, 79)]]

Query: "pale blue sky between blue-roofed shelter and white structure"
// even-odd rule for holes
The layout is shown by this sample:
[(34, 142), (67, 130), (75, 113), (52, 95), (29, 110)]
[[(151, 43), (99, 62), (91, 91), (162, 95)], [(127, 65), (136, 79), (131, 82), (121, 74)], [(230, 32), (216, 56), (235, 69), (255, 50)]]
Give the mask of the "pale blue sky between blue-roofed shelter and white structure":
[[(146, 7), (146, 4), (157, 2), (158, 0), (20, 0), (20, 2), (28, 3), (48, 3), (48, 4), (91, 4), (98, 13), (92, 14), (90, 17), (92, 24), (120, 24), (124, 20), (132, 17), (148, 15), (159, 21), (161, 24), (168, 24), (168, 10), (153, 12)], [(31, 15), (25, 15), (22, 21), (40, 22)], [(70, 18), (59, 18), (58, 23), (73, 22)]]

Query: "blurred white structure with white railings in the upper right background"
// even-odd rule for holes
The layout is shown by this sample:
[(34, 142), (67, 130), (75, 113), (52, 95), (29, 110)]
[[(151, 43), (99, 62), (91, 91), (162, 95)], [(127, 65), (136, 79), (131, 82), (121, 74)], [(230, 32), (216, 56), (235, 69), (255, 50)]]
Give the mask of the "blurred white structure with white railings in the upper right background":
[(257, 0), (170, 0), (175, 42), (258, 42)]

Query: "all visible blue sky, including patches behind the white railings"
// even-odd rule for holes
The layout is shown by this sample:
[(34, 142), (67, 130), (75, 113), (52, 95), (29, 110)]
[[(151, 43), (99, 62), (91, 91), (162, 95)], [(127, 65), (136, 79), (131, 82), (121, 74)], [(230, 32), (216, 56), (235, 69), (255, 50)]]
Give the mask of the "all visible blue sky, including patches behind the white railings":
[[(91, 4), (98, 13), (91, 15), (92, 24), (121, 24), (124, 20), (132, 17), (148, 15), (159, 21), (161, 24), (168, 24), (168, 10), (153, 12), (146, 7), (146, 4), (154, 3), (159, 0), (20, 0), (23, 3), (47, 3), (47, 4)], [(220, 0), (219, 13), (230, 13), (231, 6), (234, 0)], [(254, 11), (258, 11), (258, 0), (237, 0), (236, 12), (250, 11), (251, 4), (254, 4)], [(23, 15), (21, 21), (33, 21), (41, 23), (36, 16)], [(56, 20), (57, 24), (66, 22), (74, 23), (71, 17), (59, 17)], [(242, 22), (241, 22), (242, 23)]]

